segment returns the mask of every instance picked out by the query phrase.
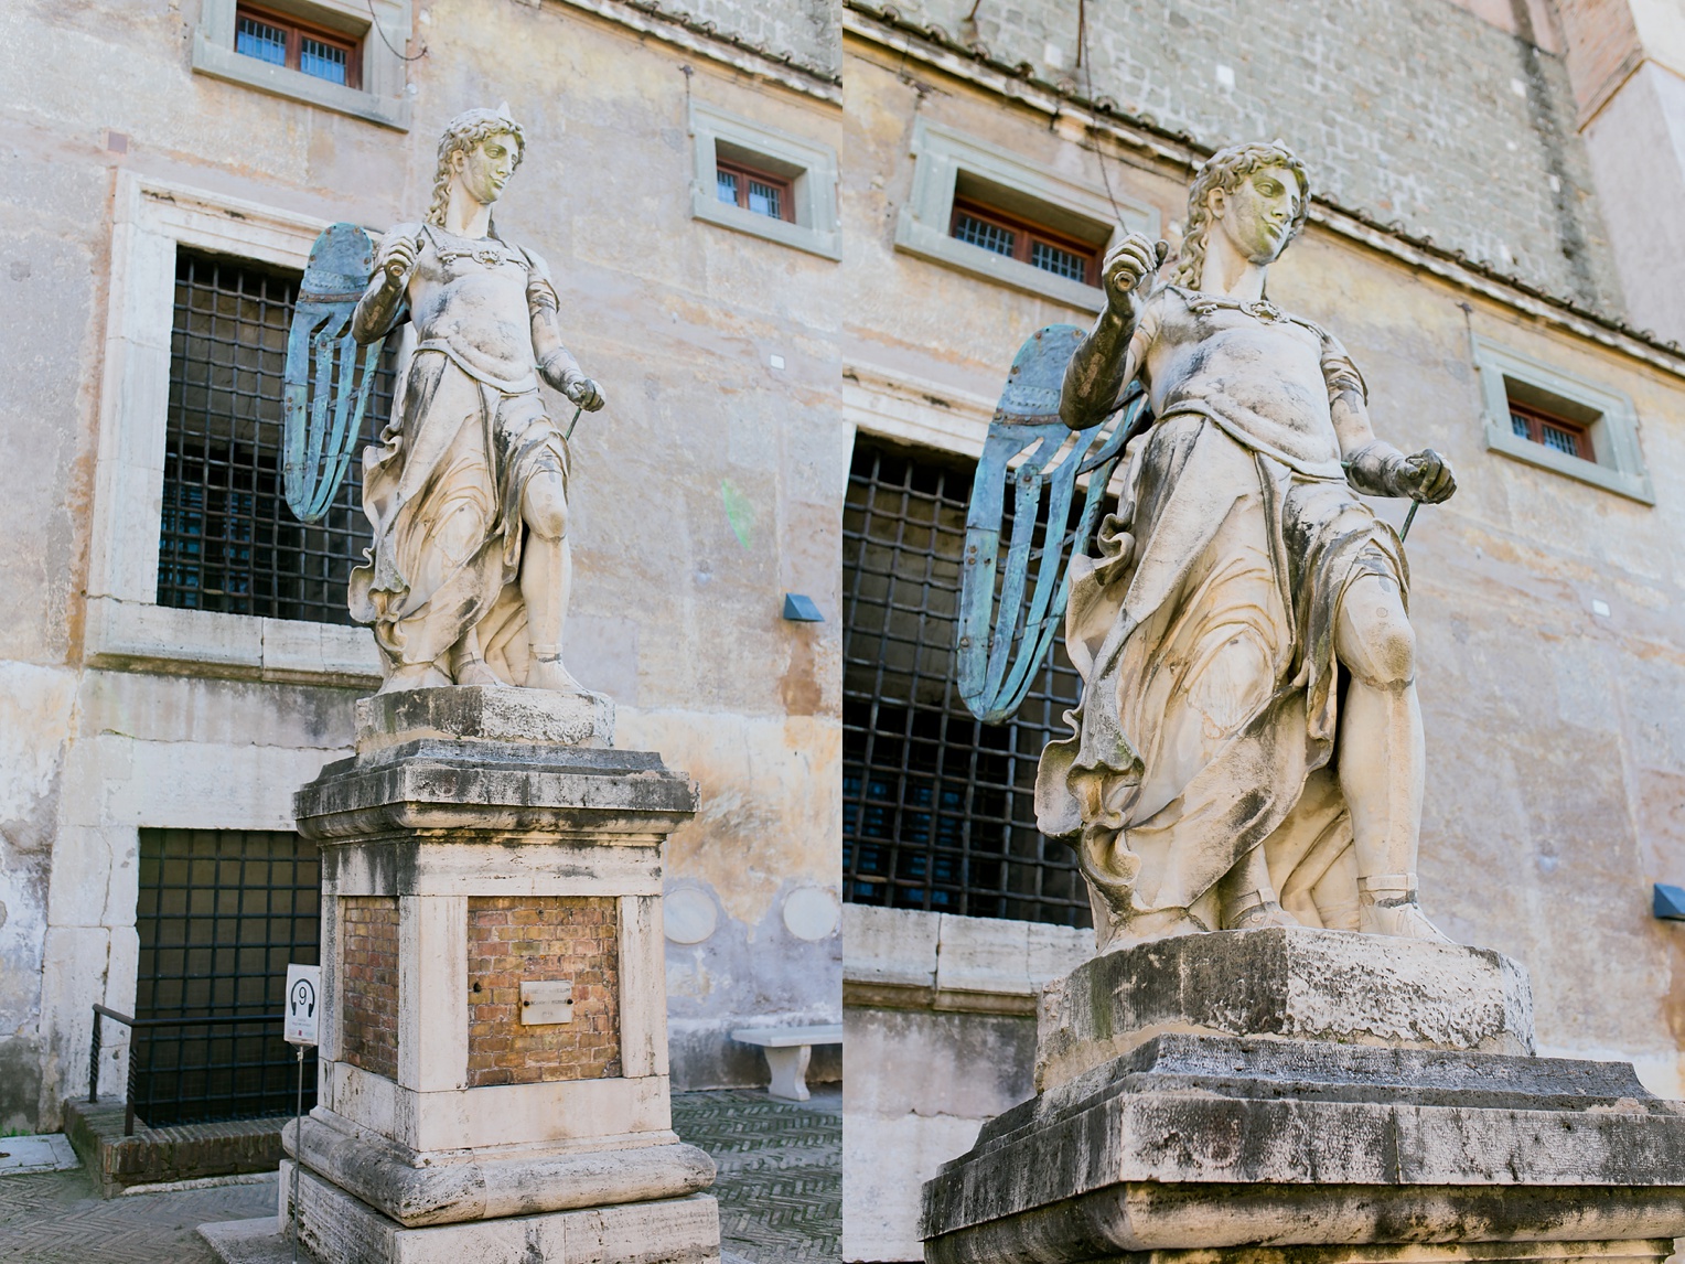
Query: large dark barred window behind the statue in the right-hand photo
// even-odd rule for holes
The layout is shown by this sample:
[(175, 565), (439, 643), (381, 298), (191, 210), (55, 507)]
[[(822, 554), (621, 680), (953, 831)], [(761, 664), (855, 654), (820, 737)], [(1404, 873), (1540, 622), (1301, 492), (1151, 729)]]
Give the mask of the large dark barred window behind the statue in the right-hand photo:
[(859, 438), (842, 517), (842, 883), (854, 903), (1090, 925), (1072, 851), (1035, 824), (1041, 747), (1078, 678), (1056, 645), (984, 725), (954, 637), (974, 465)]

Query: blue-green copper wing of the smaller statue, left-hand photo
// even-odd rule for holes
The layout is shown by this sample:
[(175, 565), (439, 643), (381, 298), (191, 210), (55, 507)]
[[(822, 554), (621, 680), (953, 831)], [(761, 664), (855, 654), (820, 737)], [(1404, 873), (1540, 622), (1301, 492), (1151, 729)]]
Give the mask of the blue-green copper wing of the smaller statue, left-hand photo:
[(350, 313), (372, 273), (369, 234), (356, 224), (332, 224), (310, 248), (298, 288), (281, 418), (286, 504), (303, 522), (318, 522), (334, 504), (362, 433), (386, 339), (359, 347)]

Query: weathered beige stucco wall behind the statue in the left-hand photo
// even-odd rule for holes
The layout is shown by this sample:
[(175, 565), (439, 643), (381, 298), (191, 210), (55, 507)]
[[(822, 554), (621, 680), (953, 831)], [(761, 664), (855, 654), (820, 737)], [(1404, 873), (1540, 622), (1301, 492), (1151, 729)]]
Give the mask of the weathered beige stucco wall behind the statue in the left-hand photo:
[[(792, 892), (839, 895), (837, 268), (691, 217), (686, 106), (819, 142), (837, 110), (580, 8), (425, 8), (408, 133), (195, 74), (192, 0), (0, 17), (17, 177), (0, 194), (15, 352), (0, 457), (17, 489), (0, 502), (0, 1126), (54, 1126), (86, 1074), (86, 1006), (133, 1003), (133, 890), (110, 881), (131, 875), (135, 827), (285, 827), (292, 790), (352, 733), (340, 688), (84, 667), (116, 174), (384, 228), (425, 209), (440, 125), (499, 101), (529, 138), (499, 229), (549, 261), (570, 345), (610, 399), (573, 442), (570, 666), (618, 701), (620, 745), (701, 784), (669, 876), (713, 892), (721, 917), (676, 956), (676, 1080), (763, 1080), (726, 1028), (837, 1016), (839, 935), (780, 919)], [(827, 622), (785, 622), (785, 592)], [(147, 708), (111, 720), (88, 701), (113, 693)], [(320, 723), (305, 735), (298, 715)], [(175, 758), (116, 809), (131, 748), (152, 748), (131, 723), (168, 730)], [(261, 804), (221, 811), (192, 775), (211, 757)], [(99, 833), (113, 812), (121, 827)]]

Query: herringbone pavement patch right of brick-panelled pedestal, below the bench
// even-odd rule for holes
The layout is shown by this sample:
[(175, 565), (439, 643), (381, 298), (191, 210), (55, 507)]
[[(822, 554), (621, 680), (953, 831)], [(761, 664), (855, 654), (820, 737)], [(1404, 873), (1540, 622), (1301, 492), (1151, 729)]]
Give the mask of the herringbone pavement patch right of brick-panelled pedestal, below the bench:
[(755, 1089), (681, 1092), (672, 1126), (719, 1176), (719, 1244), (752, 1264), (842, 1259), (842, 1090), (780, 1102)]

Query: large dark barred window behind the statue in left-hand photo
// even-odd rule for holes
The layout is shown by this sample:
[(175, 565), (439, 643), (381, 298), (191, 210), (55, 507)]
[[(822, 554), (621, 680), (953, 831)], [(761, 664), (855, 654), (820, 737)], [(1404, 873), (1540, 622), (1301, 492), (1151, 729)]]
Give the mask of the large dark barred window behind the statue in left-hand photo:
[[(158, 605), (349, 624), (345, 585), (371, 541), (362, 479), (305, 526), (281, 492), (281, 374), (298, 273), (177, 251)], [(391, 342), (364, 416), (391, 411)]]

